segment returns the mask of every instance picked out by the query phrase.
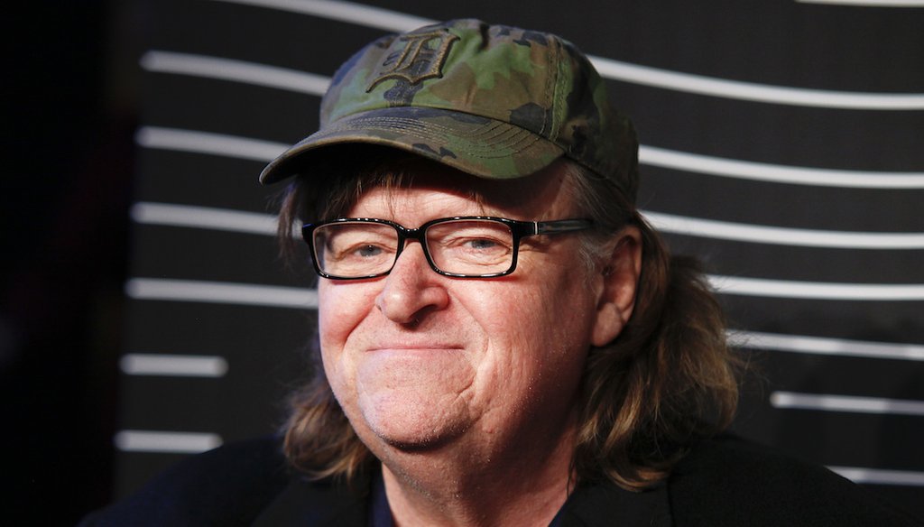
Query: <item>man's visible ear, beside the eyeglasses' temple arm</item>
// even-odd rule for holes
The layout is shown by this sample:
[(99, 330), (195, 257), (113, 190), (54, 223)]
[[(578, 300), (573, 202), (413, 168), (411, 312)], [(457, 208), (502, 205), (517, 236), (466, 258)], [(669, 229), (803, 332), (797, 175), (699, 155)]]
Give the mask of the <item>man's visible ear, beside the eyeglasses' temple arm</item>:
[(605, 346), (626, 326), (635, 308), (638, 276), (641, 274), (641, 232), (638, 227), (624, 228), (615, 237), (613, 250), (598, 269), (602, 279), (597, 299), (597, 319), (591, 343)]

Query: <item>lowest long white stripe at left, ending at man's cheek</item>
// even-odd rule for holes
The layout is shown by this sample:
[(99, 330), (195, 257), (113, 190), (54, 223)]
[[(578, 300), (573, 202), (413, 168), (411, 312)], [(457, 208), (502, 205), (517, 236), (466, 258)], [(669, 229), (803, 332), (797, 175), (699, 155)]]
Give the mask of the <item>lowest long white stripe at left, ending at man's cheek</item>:
[(131, 278), (125, 285), (125, 291), (129, 298), (135, 300), (211, 302), (296, 309), (318, 307), (318, 293), (309, 288), (167, 278)]

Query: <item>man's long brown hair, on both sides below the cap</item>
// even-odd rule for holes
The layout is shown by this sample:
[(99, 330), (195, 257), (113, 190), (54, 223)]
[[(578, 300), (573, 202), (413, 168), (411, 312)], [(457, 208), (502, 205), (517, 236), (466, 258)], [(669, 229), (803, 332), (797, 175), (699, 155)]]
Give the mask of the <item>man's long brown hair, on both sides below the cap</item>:
[[(410, 184), (407, 155), (364, 153), (373, 161), (358, 165), (355, 155), (334, 156), (323, 167), (312, 167), (310, 180), (297, 176), (290, 184), (279, 215), (284, 253), (291, 253), (292, 230), (299, 222), (346, 214), (371, 187)], [(722, 310), (698, 264), (672, 257), (608, 179), (568, 161), (565, 166), (577, 210), (594, 221), (594, 229), (581, 238), (589, 265), (599, 260), (601, 239), (626, 225), (642, 235), (634, 312), (613, 342), (591, 348), (588, 355), (572, 458), (578, 483), (609, 479), (638, 490), (662, 480), (695, 441), (731, 422), (738, 362), (725, 343)], [(317, 177), (325, 170), (332, 173)], [(346, 420), (320, 363), (311, 382), (290, 400), (284, 447), (298, 470), (349, 481), (375, 462)]]

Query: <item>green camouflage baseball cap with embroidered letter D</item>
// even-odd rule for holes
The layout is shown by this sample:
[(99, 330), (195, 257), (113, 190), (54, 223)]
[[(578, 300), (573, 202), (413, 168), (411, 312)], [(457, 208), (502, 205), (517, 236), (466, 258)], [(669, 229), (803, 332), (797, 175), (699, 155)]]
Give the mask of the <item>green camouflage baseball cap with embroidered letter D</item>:
[(312, 155), (343, 143), (407, 150), (482, 178), (529, 176), (565, 155), (630, 200), (638, 187), (635, 132), (587, 57), (555, 35), (475, 19), (387, 36), (353, 55), (323, 96), (321, 129), (260, 180), (305, 172)]

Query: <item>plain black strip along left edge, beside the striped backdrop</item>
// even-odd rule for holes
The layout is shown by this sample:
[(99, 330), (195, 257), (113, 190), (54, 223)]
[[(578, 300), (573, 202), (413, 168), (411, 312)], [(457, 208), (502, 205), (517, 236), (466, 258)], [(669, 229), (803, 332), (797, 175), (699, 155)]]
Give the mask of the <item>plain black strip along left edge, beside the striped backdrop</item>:
[(112, 496), (116, 356), (138, 122), (138, 6), (4, 15), (4, 520), (71, 525)]

